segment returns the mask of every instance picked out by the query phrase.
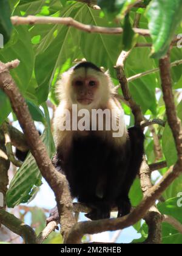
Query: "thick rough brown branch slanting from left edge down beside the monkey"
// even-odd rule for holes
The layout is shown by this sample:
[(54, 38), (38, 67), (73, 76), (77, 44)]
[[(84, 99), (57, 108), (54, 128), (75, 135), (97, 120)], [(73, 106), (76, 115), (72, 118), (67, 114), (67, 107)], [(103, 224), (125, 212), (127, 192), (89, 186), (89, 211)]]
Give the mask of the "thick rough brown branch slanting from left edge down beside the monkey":
[(69, 229), (75, 223), (72, 213), (72, 197), (70, 196), (67, 179), (63, 174), (56, 171), (52, 165), (45, 145), (39, 138), (39, 133), (32, 121), (27, 104), (10, 76), (7, 65), (2, 62), (0, 62), (0, 88), (10, 98), (12, 108), (24, 131), (30, 151), (35, 157), (39, 170), (55, 193), (58, 212), (61, 218), (61, 232), (64, 239), (66, 239)]

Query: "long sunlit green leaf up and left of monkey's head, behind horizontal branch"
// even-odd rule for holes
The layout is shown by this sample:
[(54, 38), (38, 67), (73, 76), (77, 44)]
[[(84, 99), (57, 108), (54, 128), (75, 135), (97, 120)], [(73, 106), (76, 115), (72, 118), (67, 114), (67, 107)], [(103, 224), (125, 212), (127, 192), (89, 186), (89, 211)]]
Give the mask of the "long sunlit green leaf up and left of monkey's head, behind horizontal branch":
[[(80, 6), (84, 5), (73, 4), (65, 7), (61, 16), (78, 18), (82, 11)], [(80, 32), (73, 27), (50, 25), (39, 44), (35, 62), (35, 75), (38, 81), (36, 93), (39, 96), (39, 103), (47, 100), (55, 74), (58, 76), (67, 59), (72, 62), (79, 57), (79, 39)]]

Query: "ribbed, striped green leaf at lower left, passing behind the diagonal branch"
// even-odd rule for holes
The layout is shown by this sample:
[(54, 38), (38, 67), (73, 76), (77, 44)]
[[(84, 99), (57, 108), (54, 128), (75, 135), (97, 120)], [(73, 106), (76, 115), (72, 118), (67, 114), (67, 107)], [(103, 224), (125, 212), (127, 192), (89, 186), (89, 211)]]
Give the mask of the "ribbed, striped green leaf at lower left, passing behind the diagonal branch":
[[(55, 145), (49, 127), (45, 128), (41, 138), (47, 147), (49, 157), (52, 158), (55, 153)], [(28, 202), (30, 198), (34, 196), (32, 192), (34, 191), (36, 193), (35, 187), (41, 185), (41, 179), (42, 176), (35, 159), (32, 154), (29, 153), (21, 168), (18, 169), (13, 177), (12, 182), (10, 182), (10, 187), (6, 194), (8, 207), (12, 208), (21, 203)]]

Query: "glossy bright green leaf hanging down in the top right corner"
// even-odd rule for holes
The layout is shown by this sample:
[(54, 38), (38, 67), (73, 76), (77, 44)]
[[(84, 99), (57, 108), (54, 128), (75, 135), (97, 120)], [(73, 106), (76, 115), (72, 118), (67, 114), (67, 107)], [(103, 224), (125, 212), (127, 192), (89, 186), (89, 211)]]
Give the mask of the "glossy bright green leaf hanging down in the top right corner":
[(151, 57), (166, 55), (175, 30), (182, 20), (181, 0), (152, 0), (147, 9), (149, 30), (153, 40)]

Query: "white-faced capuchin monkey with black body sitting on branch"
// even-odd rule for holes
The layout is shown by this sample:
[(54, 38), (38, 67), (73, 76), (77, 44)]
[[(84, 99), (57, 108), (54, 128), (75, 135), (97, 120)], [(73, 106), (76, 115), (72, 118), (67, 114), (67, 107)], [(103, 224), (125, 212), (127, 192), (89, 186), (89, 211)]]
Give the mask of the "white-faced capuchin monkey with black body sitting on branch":
[[(81, 62), (62, 74), (57, 88), (60, 104), (54, 119), (57, 152), (53, 164), (66, 175), (72, 197), (92, 208), (86, 215), (92, 220), (110, 218), (112, 207), (118, 207), (118, 217), (130, 212), (128, 195), (143, 158), (143, 131), (140, 127), (127, 130), (124, 119), (119, 122), (123, 130), (120, 137), (113, 136), (113, 129), (107, 130), (106, 126), (103, 130), (92, 129), (92, 118), (90, 129), (63, 130), (60, 126), (66, 124), (67, 110), (73, 124), (75, 105), (77, 111), (90, 114), (92, 110), (113, 110), (115, 114), (109, 120), (118, 123), (123, 108), (113, 96), (113, 88), (109, 74), (90, 62)], [(51, 216), (49, 220), (58, 217), (55, 212)]]

